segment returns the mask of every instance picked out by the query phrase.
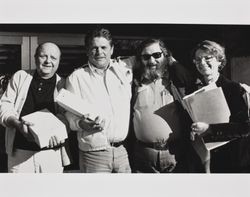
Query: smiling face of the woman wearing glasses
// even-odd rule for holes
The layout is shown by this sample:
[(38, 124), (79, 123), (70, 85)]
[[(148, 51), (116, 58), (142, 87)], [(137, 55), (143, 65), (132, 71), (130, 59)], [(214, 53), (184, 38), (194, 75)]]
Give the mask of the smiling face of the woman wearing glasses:
[(206, 79), (213, 79), (219, 75), (221, 62), (206, 50), (198, 49), (195, 52), (195, 66), (199, 73)]

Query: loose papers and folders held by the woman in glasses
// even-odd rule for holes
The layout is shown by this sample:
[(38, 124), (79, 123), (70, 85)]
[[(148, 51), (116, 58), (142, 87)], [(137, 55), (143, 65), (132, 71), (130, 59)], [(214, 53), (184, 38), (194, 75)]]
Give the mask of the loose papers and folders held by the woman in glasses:
[[(230, 110), (221, 87), (215, 84), (205, 86), (202, 89), (183, 98), (182, 104), (194, 122), (207, 124), (228, 123)], [(204, 143), (200, 136), (193, 142), (197, 153), (204, 161), (209, 150), (222, 146), (229, 141)], [(204, 146), (205, 144), (205, 146)]]

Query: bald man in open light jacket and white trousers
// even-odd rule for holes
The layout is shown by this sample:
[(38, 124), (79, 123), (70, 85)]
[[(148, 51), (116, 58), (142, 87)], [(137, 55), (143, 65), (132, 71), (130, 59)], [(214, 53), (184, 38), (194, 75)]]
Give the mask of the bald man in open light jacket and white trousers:
[[(59, 116), (61, 110), (54, 102), (64, 87), (63, 79), (56, 74), (61, 51), (51, 42), (39, 45), (35, 52), (35, 71), (17, 71), (1, 98), (0, 123), (6, 127), (8, 172), (61, 173), (69, 165), (64, 141), (52, 136), (49, 145), (40, 148), (29, 132), (31, 123), (20, 117), (47, 108)], [(45, 123), (46, 124), (46, 123)]]

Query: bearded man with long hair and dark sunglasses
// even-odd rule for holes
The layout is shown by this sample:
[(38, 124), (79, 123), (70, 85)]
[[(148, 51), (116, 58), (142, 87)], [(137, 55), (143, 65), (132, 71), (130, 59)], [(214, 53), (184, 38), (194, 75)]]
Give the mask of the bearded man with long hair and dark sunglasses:
[[(133, 129), (135, 172), (187, 172), (190, 119), (178, 100), (192, 90), (193, 79), (159, 39), (143, 41), (134, 69)], [(186, 131), (186, 133), (185, 133)]]

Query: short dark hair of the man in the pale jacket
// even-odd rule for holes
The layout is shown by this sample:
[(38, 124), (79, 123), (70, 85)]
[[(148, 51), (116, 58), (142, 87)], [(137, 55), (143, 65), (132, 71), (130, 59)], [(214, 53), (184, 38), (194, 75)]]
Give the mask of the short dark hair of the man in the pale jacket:
[(104, 28), (97, 28), (97, 29), (88, 31), (88, 33), (86, 34), (86, 37), (85, 37), (86, 48), (89, 48), (92, 40), (96, 37), (103, 37), (107, 39), (110, 43), (110, 46), (113, 46), (113, 39), (112, 39), (112, 35), (110, 31)]

